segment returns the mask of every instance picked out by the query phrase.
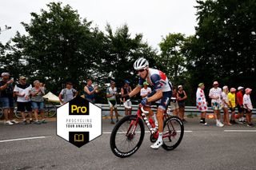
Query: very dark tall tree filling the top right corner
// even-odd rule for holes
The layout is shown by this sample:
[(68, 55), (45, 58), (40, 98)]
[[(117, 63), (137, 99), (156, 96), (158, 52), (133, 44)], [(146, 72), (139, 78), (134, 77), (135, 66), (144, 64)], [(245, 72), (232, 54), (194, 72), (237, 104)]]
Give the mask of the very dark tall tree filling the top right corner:
[(188, 71), (196, 88), (205, 82), (255, 86), (255, 0), (198, 0), (198, 26), (186, 44)]

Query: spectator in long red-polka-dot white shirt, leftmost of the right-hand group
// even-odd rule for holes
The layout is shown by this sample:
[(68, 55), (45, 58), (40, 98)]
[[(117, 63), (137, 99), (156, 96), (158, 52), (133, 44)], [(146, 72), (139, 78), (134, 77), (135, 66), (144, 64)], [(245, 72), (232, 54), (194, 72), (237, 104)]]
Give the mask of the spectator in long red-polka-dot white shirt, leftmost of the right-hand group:
[(201, 112), (201, 120), (200, 120), (200, 125), (206, 125), (206, 111), (208, 110), (207, 107), (207, 102), (206, 102), (206, 96), (204, 93), (205, 85), (203, 83), (198, 84), (198, 90), (197, 90), (197, 108)]

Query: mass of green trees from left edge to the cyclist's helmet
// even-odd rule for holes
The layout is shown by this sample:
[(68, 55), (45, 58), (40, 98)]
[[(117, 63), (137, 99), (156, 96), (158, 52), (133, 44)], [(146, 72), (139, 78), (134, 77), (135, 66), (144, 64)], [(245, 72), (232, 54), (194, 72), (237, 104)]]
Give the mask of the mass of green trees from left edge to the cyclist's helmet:
[[(22, 22), (27, 35), (19, 33), (12, 39), (0, 59), (3, 69), (14, 77), (25, 75), (30, 82), (38, 79), (46, 88), (59, 93), (66, 81), (73, 81), (74, 88), (83, 91), (86, 79), (100, 85), (98, 102), (106, 102), (106, 83), (114, 78), (118, 86), (125, 79), (137, 85), (133, 62), (146, 57), (154, 64), (156, 51), (142, 42), (142, 34), (131, 38), (128, 26), (115, 33), (110, 25), (106, 34), (81, 20), (76, 10), (61, 2), (51, 2), (48, 10), (31, 13), (30, 23)], [(5, 64), (4, 64), (5, 63)]]

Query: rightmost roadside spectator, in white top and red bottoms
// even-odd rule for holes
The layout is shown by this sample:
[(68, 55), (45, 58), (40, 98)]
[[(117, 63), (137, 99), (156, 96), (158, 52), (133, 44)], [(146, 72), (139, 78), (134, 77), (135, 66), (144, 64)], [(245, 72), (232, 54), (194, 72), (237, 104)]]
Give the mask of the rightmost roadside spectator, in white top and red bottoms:
[(247, 119), (247, 126), (254, 127), (254, 124), (251, 123), (251, 113), (253, 109), (253, 105), (250, 101), (250, 93), (252, 89), (246, 88), (246, 93), (243, 95), (243, 107), (246, 109), (246, 119)]

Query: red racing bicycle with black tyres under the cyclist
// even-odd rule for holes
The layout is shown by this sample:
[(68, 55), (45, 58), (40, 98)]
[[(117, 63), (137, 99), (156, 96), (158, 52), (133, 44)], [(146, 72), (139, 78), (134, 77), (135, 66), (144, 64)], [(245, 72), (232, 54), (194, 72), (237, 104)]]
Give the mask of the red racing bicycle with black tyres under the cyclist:
[[(145, 122), (150, 130), (150, 141), (153, 143), (158, 139), (158, 128), (155, 128), (154, 121), (146, 117), (149, 113), (138, 107), (137, 115), (123, 117), (114, 126), (110, 136), (110, 148), (115, 156), (125, 158), (138, 151), (145, 135)], [(163, 116), (164, 125), (162, 132), (162, 148), (167, 151), (173, 150), (181, 143), (184, 134), (182, 120), (175, 116), (170, 116), (167, 112)]]

